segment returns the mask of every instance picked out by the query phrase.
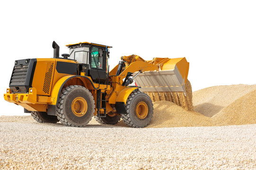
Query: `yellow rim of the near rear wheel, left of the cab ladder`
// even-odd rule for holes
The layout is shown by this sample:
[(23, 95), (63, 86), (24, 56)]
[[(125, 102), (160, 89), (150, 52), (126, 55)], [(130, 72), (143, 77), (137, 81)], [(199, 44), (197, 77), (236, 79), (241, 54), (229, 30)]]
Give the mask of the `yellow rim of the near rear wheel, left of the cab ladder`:
[(84, 98), (77, 97), (73, 100), (71, 108), (72, 108), (74, 115), (81, 117), (81, 116), (85, 115), (88, 105)]

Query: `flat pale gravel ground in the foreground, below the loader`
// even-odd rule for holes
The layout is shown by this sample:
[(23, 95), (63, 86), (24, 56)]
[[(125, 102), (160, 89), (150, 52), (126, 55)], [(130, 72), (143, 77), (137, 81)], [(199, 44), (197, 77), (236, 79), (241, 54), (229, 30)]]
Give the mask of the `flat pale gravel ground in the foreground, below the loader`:
[(0, 169), (256, 169), (256, 124), (83, 128), (0, 117)]

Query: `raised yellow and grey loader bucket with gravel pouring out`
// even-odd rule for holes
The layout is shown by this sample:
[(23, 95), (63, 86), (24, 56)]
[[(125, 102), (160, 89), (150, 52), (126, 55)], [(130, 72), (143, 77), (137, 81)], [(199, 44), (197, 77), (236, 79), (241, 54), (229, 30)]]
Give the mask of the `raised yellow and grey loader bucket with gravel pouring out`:
[(189, 63), (186, 59), (163, 59), (158, 64), (159, 70), (145, 71), (134, 78), (141, 87), (140, 91), (147, 93), (153, 102), (165, 100), (193, 110), (192, 88), (187, 80)]

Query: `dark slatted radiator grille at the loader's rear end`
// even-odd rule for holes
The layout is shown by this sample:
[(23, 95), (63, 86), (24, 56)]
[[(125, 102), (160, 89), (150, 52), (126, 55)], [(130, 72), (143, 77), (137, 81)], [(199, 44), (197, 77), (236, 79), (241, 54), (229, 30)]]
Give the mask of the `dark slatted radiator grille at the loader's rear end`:
[(25, 85), (28, 65), (15, 66), (11, 75), (10, 85)]

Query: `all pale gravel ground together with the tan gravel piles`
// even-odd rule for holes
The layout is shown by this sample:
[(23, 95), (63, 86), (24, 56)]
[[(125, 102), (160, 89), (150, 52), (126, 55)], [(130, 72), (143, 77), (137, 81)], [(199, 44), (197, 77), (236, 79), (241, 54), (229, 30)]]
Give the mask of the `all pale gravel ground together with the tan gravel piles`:
[(256, 169), (256, 85), (205, 88), (193, 92), (193, 103), (187, 111), (154, 102), (149, 128), (1, 116), (0, 170)]

